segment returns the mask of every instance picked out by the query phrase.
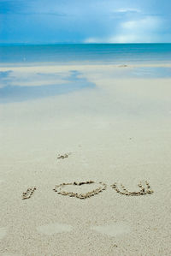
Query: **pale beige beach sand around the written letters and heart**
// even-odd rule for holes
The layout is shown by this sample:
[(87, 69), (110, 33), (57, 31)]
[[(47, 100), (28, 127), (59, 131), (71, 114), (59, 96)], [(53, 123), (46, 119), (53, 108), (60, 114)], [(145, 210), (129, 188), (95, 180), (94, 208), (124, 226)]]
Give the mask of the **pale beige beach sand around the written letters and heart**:
[[(0, 104), (0, 255), (171, 255), (171, 79), (116, 79), (115, 66), (17, 70), (31, 69), (79, 70), (96, 86)], [(90, 199), (53, 191), (89, 180), (108, 187)], [(141, 180), (154, 193), (110, 188), (137, 190)]]

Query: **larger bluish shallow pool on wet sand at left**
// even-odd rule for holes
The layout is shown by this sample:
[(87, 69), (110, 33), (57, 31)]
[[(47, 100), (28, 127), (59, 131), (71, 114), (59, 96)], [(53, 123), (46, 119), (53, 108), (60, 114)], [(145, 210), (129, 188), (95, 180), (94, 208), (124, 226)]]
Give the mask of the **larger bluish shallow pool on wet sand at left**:
[(71, 70), (65, 75), (37, 73), (26, 74), (24, 77), (18, 77), (15, 72), (9, 70), (0, 72), (0, 82), (0, 103), (45, 98), (95, 86), (76, 70)]

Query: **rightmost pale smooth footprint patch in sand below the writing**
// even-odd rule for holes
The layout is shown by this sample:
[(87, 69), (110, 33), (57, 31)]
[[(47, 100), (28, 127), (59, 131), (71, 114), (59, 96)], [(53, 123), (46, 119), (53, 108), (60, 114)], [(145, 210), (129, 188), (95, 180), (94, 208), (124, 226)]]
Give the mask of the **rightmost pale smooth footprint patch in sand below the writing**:
[(91, 227), (91, 230), (109, 236), (125, 235), (131, 232), (131, 228), (126, 223), (113, 223), (103, 226), (93, 226)]

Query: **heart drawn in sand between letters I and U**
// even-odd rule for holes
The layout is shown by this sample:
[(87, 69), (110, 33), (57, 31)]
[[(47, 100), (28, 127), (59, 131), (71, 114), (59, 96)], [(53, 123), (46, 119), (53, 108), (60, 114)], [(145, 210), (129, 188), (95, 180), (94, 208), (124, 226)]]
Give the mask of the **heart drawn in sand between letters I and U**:
[[(87, 185), (89, 189), (88, 192), (85, 185)], [(91, 187), (91, 191), (90, 191), (90, 187)], [(96, 182), (88, 181), (88, 182), (62, 183), (62, 184), (56, 185), (56, 187), (53, 190), (57, 193), (61, 193), (62, 195), (68, 195), (70, 197), (76, 197), (79, 199), (87, 199), (87, 198), (90, 198), (91, 196), (94, 196), (97, 193), (103, 192), (103, 190), (105, 190), (106, 188), (107, 188), (107, 185), (103, 182), (96, 183)]]

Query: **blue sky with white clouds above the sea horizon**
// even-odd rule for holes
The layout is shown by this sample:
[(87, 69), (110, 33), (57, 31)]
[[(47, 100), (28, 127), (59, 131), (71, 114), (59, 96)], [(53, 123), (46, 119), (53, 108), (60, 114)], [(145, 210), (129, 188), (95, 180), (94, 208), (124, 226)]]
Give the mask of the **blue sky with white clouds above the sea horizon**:
[(0, 0), (0, 43), (171, 42), (171, 0)]

